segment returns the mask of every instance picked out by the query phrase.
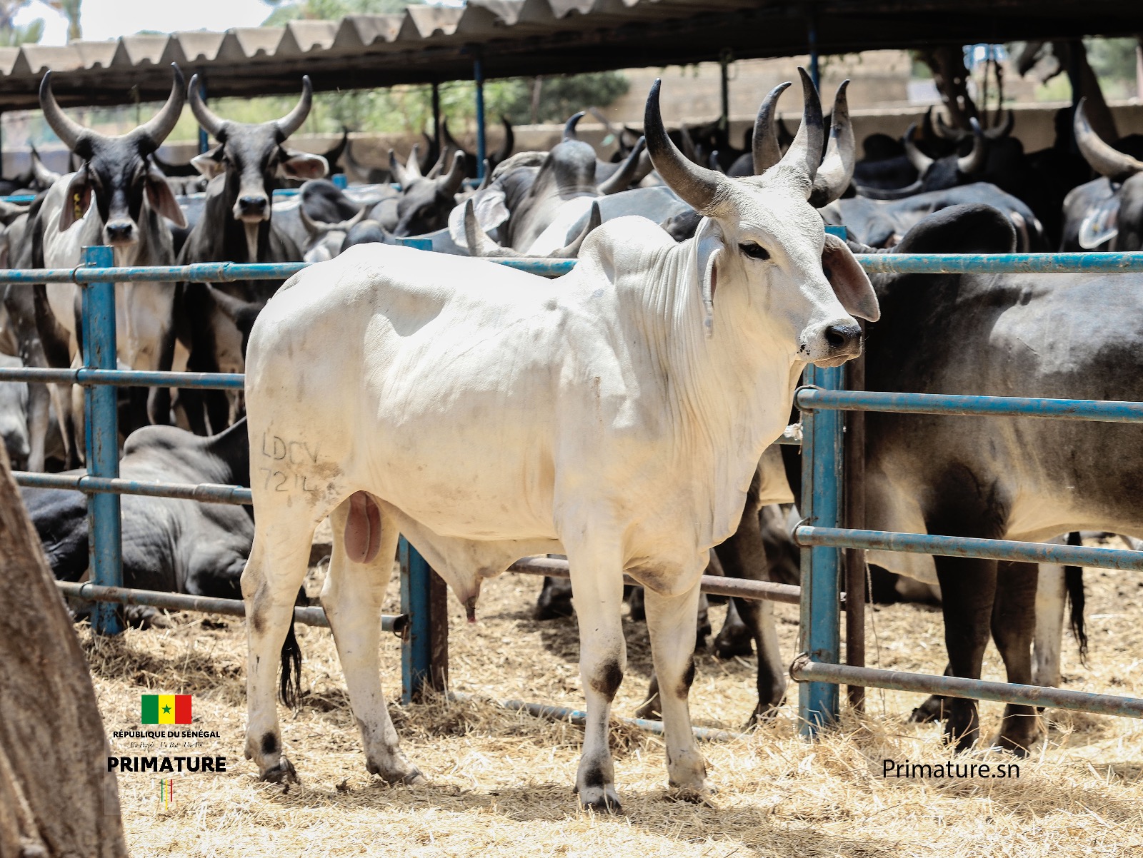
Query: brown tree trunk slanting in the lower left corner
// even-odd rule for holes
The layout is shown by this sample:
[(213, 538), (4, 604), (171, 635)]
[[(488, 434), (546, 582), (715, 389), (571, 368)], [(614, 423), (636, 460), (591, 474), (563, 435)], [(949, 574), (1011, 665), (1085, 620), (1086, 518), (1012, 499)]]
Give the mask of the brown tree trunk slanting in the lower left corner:
[(0, 856), (127, 856), (95, 689), (0, 452)]

